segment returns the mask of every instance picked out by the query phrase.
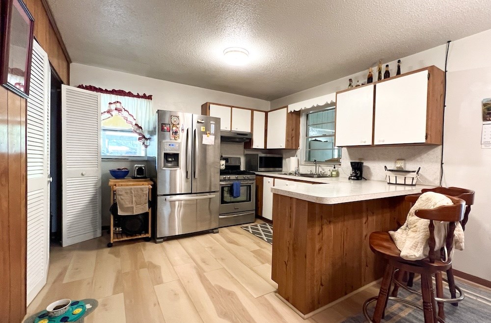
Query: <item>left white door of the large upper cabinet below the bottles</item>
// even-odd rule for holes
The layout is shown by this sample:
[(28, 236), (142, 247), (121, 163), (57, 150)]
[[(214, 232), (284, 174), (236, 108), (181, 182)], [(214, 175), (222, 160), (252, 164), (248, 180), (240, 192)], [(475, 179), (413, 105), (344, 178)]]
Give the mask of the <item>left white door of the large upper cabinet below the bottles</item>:
[(336, 95), (336, 146), (372, 144), (374, 88), (367, 85)]

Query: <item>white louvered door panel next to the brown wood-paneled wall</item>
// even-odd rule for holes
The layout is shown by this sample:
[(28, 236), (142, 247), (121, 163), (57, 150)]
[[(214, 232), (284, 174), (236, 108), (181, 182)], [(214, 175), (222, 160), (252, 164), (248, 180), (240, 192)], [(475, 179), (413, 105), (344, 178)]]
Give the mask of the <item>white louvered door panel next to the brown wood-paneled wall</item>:
[(50, 90), (48, 54), (34, 42), (27, 99), (27, 305), (43, 288), (48, 277)]

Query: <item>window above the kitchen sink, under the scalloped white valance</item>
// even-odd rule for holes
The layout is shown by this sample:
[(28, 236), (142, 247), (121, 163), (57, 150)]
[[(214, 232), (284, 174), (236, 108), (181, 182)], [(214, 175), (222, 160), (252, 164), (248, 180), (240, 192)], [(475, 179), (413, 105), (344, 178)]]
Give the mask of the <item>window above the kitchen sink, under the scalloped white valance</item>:
[(339, 164), (341, 148), (334, 146), (335, 107), (306, 113), (305, 161)]

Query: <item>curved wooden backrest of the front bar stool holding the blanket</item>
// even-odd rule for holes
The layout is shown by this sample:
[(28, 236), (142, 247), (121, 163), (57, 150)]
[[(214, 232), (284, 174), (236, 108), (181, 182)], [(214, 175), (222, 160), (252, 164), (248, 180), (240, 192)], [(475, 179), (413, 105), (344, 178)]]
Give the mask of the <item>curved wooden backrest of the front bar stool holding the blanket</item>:
[[(411, 203), (415, 203), (420, 195), (408, 195), (406, 196), (406, 200)], [(445, 221), (449, 222), (447, 236), (445, 239), (445, 246), (447, 248), (447, 255), (451, 254), (452, 247), (454, 244), (454, 231), (456, 222), (461, 221), (464, 218), (465, 211), (465, 201), (458, 197), (448, 196), (452, 205), (443, 205), (436, 207), (434, 209), (420, 209), (416, 210), (414, 215), (417, 217), (430, 220), (430, 224), (428, 225), (430, 231), (430, 237), (428, 238), (428, 246), (430, 250), (428, 252), (428, 257), (430, 262), (435, 262), (435, 224), (433, 221)], [(449, 256), (445, 257), (449, 258)]]

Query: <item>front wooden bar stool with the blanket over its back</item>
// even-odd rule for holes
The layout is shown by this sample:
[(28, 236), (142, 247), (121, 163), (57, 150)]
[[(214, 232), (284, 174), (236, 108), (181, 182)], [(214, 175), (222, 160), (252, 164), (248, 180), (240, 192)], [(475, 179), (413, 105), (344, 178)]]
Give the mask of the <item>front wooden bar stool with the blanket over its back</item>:
[[(411, 203), (415, 203), (419, 195), (408, 195), (406, 200)], [(387, 266), (382, 278), (382, 286), (380, 288), (379, 296), (369, 298), (363, 304), (363, 314), (369, 322), (380, 323), (384, 316), (385, 307), (389, 299), (400, 301), (402, 303), (417, 307), (423, 310), (425, 323), (437, 323), (444, 322), (439, 318), (436, 313), (435, 293), (433, 289), (432, 275), (437, 272), (441, 272), (450, 269), (452, 266), (451, 261), (451, 249), (453, 246), (454, 230), (457, 221), (461, 221), (464, 218), (464, 200), (448, 196), (452, 201), (452, 205), (439, 206), (435, 209), (417, 210), (415, 215), (430, 220), (429, 231), (430, 237), (428, 239), (429, 254), (428, 257), (423, 260), (409, 261), (401, 258), (401, 251), (397, 248), (394, 241), (390, 237), (388, 232), (373, 232), (370, 234), (369, 244), (370, 249), (376, 254), (382, 255), (387, 260)], [(447, 221), (449, 222), (448, 232), (445, 240), (445, 245), (448, 250), (448, 259), (443, 262), (435, 256), (435, 225), (433, 221)], [(423, 296), (423, 306), (411, 302), (407, 299), (389, 296), (390, 285), (393, 281), (394, 272), (400, 271), (414, 272), (421, 275), (421, 294)], [(369, 317), (367, 307), (370, 303), (377, 301), (375, 311), (372, 318)]]

